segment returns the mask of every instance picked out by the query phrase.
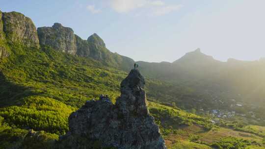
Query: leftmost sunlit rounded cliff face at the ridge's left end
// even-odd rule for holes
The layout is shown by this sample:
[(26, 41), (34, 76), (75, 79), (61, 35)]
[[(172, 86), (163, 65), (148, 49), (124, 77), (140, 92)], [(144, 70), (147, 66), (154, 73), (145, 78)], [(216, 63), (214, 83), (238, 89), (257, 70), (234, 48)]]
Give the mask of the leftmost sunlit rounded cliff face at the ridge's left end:
[(3, 32), (8, 42), (27, 47), (39, 47), (39, 39), (32, 21), (18, 12), (2, 13)]

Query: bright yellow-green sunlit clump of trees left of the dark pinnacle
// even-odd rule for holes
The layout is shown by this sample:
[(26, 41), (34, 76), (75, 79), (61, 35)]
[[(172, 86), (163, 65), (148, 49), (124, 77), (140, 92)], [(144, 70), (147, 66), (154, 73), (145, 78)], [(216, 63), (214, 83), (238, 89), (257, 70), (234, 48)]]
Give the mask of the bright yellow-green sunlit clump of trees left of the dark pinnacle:
[(22, 106), (0, 109), (4, 122), (20, 128), (33, 128), (64, 134), (68, 130), (68, 116), (74, 108), (50, 98), (30, 96)]

